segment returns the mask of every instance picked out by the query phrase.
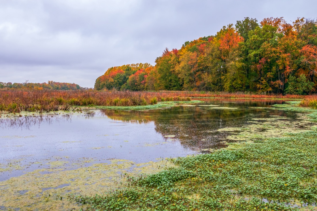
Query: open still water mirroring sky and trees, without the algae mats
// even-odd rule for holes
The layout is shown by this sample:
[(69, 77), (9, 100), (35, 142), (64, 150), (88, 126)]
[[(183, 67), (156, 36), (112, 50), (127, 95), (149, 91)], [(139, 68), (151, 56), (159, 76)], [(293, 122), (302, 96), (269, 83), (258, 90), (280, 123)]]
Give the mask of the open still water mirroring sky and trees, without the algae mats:
[(230, 142), (226, 139), (230, 133), (219, 129), (254, 124), (250, 120), (255, 118), (297, 118), (295, 112), (271, 109), (282, 100), (199, 100), (204, 102), (149, 111), (90, 110), (0, 118), (0, 181), (51, 168), (52, 162), (59, 161), (66, 167), (87, 159), (93, 162), (85, 166), (111, 159), (145, 163), (203, 153)]

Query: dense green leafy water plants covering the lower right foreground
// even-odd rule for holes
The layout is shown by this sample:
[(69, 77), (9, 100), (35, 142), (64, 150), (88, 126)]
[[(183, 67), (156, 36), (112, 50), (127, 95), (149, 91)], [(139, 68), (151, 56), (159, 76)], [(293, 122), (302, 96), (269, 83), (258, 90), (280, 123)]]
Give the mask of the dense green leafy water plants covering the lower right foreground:
[[(316, 113), (310, 118), (316, 120)], [(316, 137), (312, 128), (231, 143), (174, 159), (176, 168), (129, 178), (126, 189), (73, 197), (88, 205), (85, 210), (316, 210)]]

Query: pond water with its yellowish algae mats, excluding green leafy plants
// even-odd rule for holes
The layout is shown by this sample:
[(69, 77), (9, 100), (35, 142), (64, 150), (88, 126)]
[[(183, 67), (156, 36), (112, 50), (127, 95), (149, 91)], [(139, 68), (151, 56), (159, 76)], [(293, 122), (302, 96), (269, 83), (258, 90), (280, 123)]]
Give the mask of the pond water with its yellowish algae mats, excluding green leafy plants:
[(149, 111), (0, 118), (0, 208), (52, 208), (36, 201), (55, 195), (56, 209), (71, 209), (75, 205), (60, 205), (57, 199), (88, 189), (87, 194), (105, 193), (113, 183), (124, 183), (118, 182), (122, 175), (168, 166), (166, 157), (210, 153), (245, 136), (258, 140), (311, 127), (302, 114), (272, 109), (283, 100), (199, 100)]

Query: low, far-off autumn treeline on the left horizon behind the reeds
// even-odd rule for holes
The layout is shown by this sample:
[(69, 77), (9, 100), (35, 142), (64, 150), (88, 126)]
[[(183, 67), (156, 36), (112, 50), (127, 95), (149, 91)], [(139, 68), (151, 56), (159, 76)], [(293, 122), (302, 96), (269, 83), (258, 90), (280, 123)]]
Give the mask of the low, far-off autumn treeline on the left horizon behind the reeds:
[(77, 90), (83, 89), (78, 84), (71, 84), (71, 83), (60, 83), (49, 80), (48, 83), (3, 83), (0, 82), (0, 89), (7, 88), (7, 89), (50, 89), (50, 90)]

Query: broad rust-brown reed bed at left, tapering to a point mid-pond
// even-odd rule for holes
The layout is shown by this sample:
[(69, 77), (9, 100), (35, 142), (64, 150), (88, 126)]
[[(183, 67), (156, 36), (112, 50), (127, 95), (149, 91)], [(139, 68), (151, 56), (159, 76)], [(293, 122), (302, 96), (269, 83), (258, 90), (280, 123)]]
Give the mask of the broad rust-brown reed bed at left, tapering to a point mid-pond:
[(188, 97), (158, 92), (0, 90), (0, 111), (68, 111), (77, 106), (153, 105), (159, 101), (190, 101)]

